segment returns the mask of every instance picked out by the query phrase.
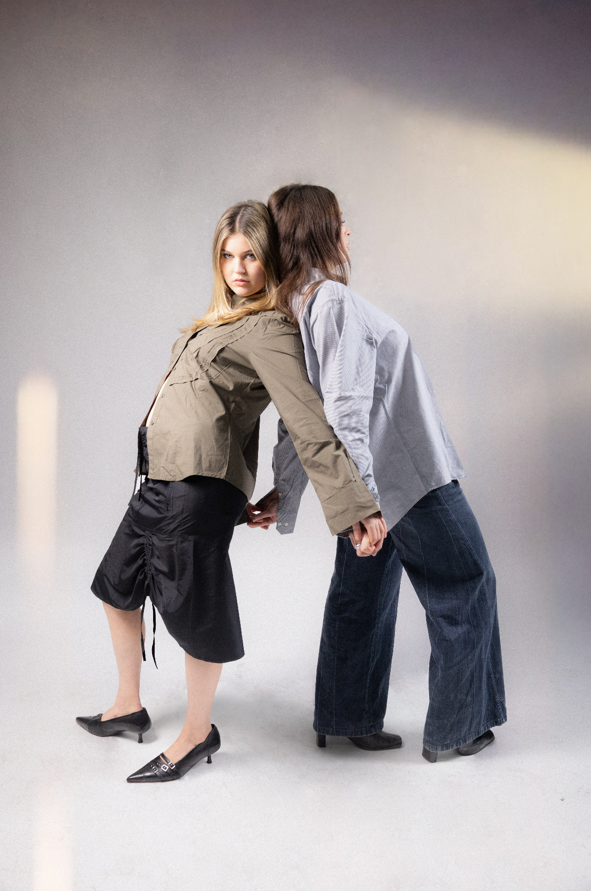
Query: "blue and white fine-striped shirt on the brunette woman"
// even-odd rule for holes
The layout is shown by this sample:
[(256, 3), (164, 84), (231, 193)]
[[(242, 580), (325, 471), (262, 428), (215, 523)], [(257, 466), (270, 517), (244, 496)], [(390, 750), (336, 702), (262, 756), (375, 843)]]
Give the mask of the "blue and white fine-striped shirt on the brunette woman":
[[(466, 473), (409, 335), (338, 282), (322, 282), (299, 318), (308, 377), (388, 528), (423, 495)], [(283, 421), (273, 449), (277, 528), (292, 532), (305, 470)]]

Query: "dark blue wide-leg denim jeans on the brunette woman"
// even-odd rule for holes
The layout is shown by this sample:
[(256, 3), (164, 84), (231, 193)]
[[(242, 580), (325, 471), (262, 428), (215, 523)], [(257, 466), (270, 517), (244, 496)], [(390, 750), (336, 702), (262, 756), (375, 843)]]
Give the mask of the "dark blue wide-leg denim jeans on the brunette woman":
[(314, 729), (366, 736), (384, 726), (402, 567), (431, 641), (423, 742), (457, 748), (506, 721), (496, 581), (456, 480), (433, 489), (390, 529), (376, 557), (336, 545), (316, 676)]

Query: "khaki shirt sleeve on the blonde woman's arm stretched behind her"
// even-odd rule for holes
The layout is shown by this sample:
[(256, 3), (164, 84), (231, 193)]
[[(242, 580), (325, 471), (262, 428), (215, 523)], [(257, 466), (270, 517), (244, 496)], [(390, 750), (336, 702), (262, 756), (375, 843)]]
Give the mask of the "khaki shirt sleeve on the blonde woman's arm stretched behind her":
[(331, 533), (374, 513), (376, 502), (330, 428), (320, 396), (308, 380), (298, 335), (271, 320), (250, 361), (285, 423)]

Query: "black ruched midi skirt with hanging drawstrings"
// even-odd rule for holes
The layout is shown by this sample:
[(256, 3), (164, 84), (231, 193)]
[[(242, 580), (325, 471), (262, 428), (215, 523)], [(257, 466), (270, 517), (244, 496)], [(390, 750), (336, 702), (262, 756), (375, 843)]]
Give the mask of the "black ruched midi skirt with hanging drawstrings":
[(158, 609), (174, 640), (206, 662), (244, 656), (228, 549), (247, 496), (225, 479), (147, 479), (129, 503), (91, 590), (117, 609)]

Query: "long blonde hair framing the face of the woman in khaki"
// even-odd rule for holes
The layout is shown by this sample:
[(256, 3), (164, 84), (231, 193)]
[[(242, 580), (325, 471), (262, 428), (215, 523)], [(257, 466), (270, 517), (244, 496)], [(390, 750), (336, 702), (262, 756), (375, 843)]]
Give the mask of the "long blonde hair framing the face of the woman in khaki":
[[(266, 278), (263, 290), (251, 297), (242, 298), (236, 307), (232, 307), (234, 291), (224, 281), (220, 258), (223, 242), (236, 233), (245, 236), (256, 259), (263, 266)], [(212, 261), (214, 297), (206, 314), (200, 319), (194, 319), (194, 323), (183, 329), (182, 333), (197, 331), (206, 325), (237, 322), (244, 315), (274, 308), (275, 292), (279, 287), (279, 245), (271, 215), (261, 201), (240, 201), (226, 210), (215, 226)]]

